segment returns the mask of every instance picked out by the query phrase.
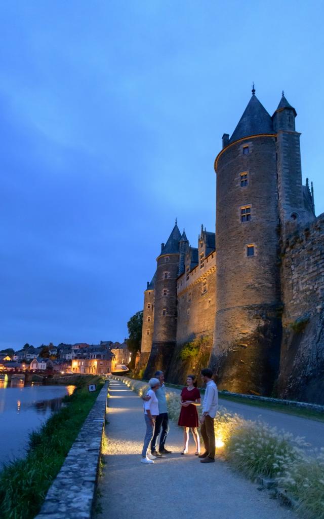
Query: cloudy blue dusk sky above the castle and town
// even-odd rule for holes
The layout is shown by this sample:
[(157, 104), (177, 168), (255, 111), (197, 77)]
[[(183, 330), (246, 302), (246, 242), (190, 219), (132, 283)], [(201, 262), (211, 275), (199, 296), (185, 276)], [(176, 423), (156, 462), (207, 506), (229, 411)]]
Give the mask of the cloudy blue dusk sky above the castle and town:
[(215, 230), (251, 95), (298, 112), (324, 211), (322, 1), (3, 0), (0, 348), (120, 340), (175, 218)]

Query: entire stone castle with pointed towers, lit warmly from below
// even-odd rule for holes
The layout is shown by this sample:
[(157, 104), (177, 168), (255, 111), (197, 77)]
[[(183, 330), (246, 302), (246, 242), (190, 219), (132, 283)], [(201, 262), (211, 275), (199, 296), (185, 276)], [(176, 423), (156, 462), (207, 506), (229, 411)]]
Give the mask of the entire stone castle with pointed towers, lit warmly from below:
[(191, 247), (177, 222), (144, 295), (138, 369), (182, 382), (213, 368), (220, 389), (324, 403), (324, 214), (302, 184), (284, 92), (252, 97), (215, 160), (216, 235)]

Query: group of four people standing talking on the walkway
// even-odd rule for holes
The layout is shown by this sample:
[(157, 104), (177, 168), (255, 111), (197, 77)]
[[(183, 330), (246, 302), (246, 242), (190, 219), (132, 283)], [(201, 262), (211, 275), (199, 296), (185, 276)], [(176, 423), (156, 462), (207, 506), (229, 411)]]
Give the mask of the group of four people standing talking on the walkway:
[[(201, 378), (206, 384), (203, 400), (202, 415), (200, 418), (201, 435), (204, 441), (205, 452), (201, 453), (199, 438), (199, 418), (197, 407), (201, 405), (201, 395), (197, 388), (195, 376), (188, 375), (187, 387), (180, 394), (181, 410), (178, 425), (184, 428), (184, 448), (181, 454), (188, 454), (189, 430), (191, 430), (196, 446), (195, 455), (201, 463), (213, 463), (215, 461), (215, 431), (214, 418), (217, 413), (218, 391), (213, 381), (213, 372), (209, 368), (201, 371)], [(142, 463), (154, 463), (154, 459), (161, 458), (165, 454), (171, 454), (171, 450), (165, 448), (165, 441), (169, 431), (166, 393), (164, 385), (164, 373), (157, 371), (154, 378), (149, 380), (149, 390), (144, 400), (144, 418), (146, 422), (146, 434), (142, 450)], [(158, 438), (159, 447), (158, 447)]]

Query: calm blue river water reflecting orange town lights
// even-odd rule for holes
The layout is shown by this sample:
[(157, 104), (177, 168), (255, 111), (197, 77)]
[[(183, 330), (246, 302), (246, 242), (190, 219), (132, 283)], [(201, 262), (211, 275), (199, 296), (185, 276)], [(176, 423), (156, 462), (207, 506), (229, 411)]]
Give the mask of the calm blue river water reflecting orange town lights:
[(0, 379), (0, 470), (3, 463), (25, 455), (29, 433), (62, 406), (74, 386), (27, 385), (13, 378), (10, 387)]

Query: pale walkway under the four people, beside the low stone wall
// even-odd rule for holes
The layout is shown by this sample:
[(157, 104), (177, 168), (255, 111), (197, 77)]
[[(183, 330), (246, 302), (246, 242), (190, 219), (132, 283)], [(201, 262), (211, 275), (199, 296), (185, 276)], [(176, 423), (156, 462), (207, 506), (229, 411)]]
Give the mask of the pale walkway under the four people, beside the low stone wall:
[(171, 422), (167, 448), (173, 454), (153, 465), (140, 463), (145, 425), (142, 401), (120, 381), (109, 388), (106, 462), (99, 482), (102, 508), (96, 519), (179, 519), (184, 514), (217, 519), (294, 519), (266, 491), (229, 468), (226, 462), (203, 465), (194, 453), (180, 455), (182, 430)]

